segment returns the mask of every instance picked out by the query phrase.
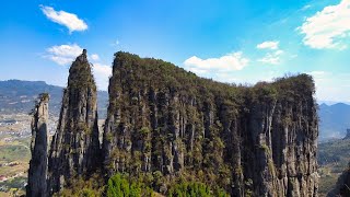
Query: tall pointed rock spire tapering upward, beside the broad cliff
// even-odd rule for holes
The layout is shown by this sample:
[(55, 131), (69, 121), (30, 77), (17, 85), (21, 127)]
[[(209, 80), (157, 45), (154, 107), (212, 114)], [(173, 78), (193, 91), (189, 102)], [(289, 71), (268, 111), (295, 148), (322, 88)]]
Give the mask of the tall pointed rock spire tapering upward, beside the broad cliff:
[(96, 85), (86, 50), (69, 69), (58, 128), (48, 159), (48, 188), (56, 193), (77, 176), (85, 177), (100, 166)]

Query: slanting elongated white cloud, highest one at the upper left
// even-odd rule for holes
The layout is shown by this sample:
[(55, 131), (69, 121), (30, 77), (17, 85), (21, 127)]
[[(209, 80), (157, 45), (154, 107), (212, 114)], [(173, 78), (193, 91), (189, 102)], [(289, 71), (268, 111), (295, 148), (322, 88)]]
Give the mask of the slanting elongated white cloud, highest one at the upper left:
[(45, 5), (40, 5), (40, 9), (43, 13), (47, 16), (47, 19), (55, 23), (66, 26), (69, 30), (69, 33), (72, 33), (74, 31), (88, 30), (86, 23), (73, 13), (56, 11), (54, 10), (54, 8)]

